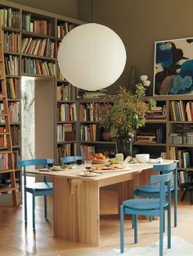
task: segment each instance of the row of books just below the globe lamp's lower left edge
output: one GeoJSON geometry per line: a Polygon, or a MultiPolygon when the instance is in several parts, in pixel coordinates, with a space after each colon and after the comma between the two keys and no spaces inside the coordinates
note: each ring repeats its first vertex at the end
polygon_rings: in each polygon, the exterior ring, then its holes
{"type": "Polygon", "coordinates": [[[56,100],[71,101],[76,99],[76,88],[70,83],[57,85],[56,100]]]}

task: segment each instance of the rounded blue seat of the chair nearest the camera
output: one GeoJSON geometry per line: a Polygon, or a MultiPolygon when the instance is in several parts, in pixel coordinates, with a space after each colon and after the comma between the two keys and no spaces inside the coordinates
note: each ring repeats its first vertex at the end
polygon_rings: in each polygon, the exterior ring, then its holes
{"type": "MultiPolygon", "coordinates": [[[[123,201],[123,205],[139,210],[153,210],[159,208],[159,199],[129,199],[123,201]]],[[[168,206],[168,202],[164,202],[164,207],[168,206]]]]}

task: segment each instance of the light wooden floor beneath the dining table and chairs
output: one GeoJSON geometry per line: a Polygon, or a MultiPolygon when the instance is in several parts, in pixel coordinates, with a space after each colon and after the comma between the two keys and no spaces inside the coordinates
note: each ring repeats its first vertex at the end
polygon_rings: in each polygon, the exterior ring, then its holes
{"type": "MultiPolygon", "coordinates": [[[[180,197],[180,196],[179,196],[180,197]]],[[[106,249],[119,249],[119,217],[117,215],[116,191],[101,191],[101,246],[93,247],[65,240],[55,239],[52,232],[52,197],[49,197],[49,221],[43,217],[43,201],[37,198],[37,229],[33,232],[31,198],[29,195],[29,222],[25,226],[23,208],[0,205],[0,255],[83,255],[106,249]]],[[[133,245],[131,222],[125,225],[125,243],[133,245]]],[[[172,235],[181,236],[193,244],[193,205],[189,197],[178,205],[178,226],[172,228],[172,235]]],[[[150,245],[159,239],[159,221],[141,220],[138,225],[138,246],[150,245]]],[[[107,254],[106,254],[107,255],[107,254]]]]}

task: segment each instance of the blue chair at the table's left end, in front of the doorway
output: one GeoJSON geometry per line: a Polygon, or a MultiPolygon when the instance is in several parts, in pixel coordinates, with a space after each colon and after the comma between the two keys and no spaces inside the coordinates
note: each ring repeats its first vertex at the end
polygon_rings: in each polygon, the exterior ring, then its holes
{"type": "Polygon", "coordinates": [[[43,166],[47,167],[47,159],[29,159],[21,160],[20,167],[24,170],[24,192],[25,192],[25,222],[27,222],[27,192],[31,193],[33,198],[33,229],[35,229],[35,197],[44,196],[44,216],[47,218],[47,195],[52,194],[52,183],[46,181],[46,176],[43,177],[43,182],[34,182],[34,184],[26,184],[26,167],[43,166]]]}

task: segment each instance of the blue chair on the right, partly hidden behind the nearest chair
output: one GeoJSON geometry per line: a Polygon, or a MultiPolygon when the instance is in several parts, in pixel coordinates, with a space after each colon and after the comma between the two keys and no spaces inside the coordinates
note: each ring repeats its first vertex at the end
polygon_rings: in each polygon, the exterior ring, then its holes
{"type": "MultiPolygon", "coordinates": [[[[163,174],[173,171],[173,186],[171,186],[171,191],[174,193],[174,226],[177,226],[177,162],[154,165],[153,171],[159,171],[163,174]]],[[[139,185],[132,190],[133,198],[135,198],[136,195],[159,198],[159,185],[139,185]]]]}

